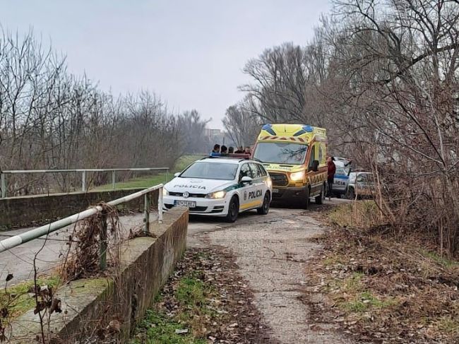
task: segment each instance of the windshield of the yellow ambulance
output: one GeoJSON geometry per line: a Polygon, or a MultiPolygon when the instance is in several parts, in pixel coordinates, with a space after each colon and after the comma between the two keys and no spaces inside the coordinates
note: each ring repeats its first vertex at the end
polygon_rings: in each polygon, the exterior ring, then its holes
{"type": "Polygon", "coordinates": [[[308,146],[298,143],[261,142],[256,145],[254,158],[275,164],[301,165],[308,146]]]}

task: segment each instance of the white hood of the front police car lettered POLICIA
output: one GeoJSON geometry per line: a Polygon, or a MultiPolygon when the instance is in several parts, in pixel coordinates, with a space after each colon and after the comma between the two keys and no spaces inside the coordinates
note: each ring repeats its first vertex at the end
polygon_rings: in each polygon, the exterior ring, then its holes
{"type": "Polygon", "coordinates": [[[169,192],[189,192],[190,194],[209,194],[234,184],[232,180],[198,179],[176,177],[165,188],[169,192]]]}

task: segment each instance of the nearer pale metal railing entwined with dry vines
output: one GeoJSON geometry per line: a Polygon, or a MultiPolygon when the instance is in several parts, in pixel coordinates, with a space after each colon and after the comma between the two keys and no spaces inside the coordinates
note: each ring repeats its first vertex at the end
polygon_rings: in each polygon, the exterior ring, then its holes
{"type": "MultiPolygon", "coordinates": [[[[162,223],[162,188],[163,184],[151,186],[148,189],[138,191],[135,194],[130,194],[128,196],[124,196],[114,201],[109,201],[107,204],[109,206],[118,206],[121,203],[126,203],[132,201],[133,199],[139,198],[144,196],[144,214],[145,218],[143,219],[145,226],[143,227],[143,232],[149,233],[150,232],[150,198],[148,197],[155,190],[159,190],[158,202],[157,202],[157,211],[158,211],[158,222],[162,223]]],[[[104,270],[107,268],[107,216],[104,215],[104,209],[102,206],[95,206],[88,210],[81,211],[81,213],[68,216],[67,218],[63,218],[61,220],[54,221],[53,223],[49,223],[49,225],[44,225],[41,227],[37,227],[33,230],[29,230],[28,232],[21,233],[19,235],[15,235],[13,237],[8,237],[7,239],[3,239],[0,241],[0,253],[4,251],[8,251],[8,249],[13,249],[13,247],[18,247],[25,242],[30,242],[33,239],[38,239],[39,237],[43,237],[44,235],[49,235],[52,232],[56,232],[56,230],[60,230],[68,225],[73,225],[74,223],[84,220],[85,218],[89,218],[97,213],[102,213],[102,228],[105,230],[102,231],[100,235],[100,268],[104,270]]]]}

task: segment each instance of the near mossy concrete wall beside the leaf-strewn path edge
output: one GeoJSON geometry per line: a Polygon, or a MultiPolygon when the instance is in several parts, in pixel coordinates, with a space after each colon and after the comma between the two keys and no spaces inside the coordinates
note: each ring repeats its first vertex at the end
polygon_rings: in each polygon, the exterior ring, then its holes
{"type": "MultiPolygon", "coordinates": [[[[121,323],[119,339],[125,343],[184,253],[187,228],[188,210],[169,210],[162,225],[151,225],[154,237],[127,242],[116,278],[76,280],[59,288],[63,312],[51,316],[53,343],[95,336],[113,319],[121,323]]],[[[32,310],[21,316],[13,324],[11,343],[32,343],[40,331],[38,319],[32,310]]]]}

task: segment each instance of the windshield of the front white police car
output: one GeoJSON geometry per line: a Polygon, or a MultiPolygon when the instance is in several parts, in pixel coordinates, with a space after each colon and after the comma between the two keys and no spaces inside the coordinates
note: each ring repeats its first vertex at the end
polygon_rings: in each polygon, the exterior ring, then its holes
{"type": "Polygon", "coordinates": [[[237,164],[225,162],[195,162],[180,174],[181,178],[233,180],[237,164]]]}

